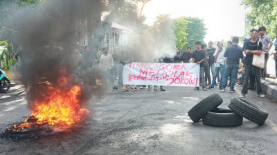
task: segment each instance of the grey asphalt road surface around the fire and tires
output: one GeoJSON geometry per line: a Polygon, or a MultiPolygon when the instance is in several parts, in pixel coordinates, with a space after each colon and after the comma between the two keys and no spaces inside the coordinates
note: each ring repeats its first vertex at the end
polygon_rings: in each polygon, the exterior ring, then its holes
{"type": "MultiPolygon", "coordinates": [[[[264,125],[244,119],[240,127],[210,127],[190,121],[188,110],[215,92],[224,100],[220,107],[228,107],[238,93],[220,93],[217,87],[206,92],[165,88],[110,92],[91,103],[93,119],[88,123],[39,138],[0,138],[0,154],[276,154],[276,103],[249,92],[246,99],[269,112],[264,125]]],[[[1,133],[30,116],[24,90],[17,85],[12,91],[0,94],[1,133]]]]}

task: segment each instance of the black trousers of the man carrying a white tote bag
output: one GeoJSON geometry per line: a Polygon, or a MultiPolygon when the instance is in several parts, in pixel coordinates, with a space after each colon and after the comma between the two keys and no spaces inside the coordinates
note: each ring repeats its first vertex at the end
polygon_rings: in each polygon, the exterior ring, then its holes
{"type": "Polygon", "coordinates": [[[248,79],[252,68],[254,70],[254,74],[256,77],[257,93],[262,94],[262,84],[260,83],[260,68],[257,68],[253,65],[248,65],[248,64],[244,66],[244,81],[243,81],[242,94],[247,94],[248,92],[248,79]]]}

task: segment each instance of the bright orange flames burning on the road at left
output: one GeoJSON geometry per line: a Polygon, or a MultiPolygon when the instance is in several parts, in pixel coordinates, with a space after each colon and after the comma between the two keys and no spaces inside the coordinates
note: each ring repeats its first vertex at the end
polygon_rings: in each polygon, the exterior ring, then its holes
{"type": "MultiPolygon", "coordinates": [[[[64,70],[60,71],[65,74],[64,70]]],[[[33,124],[55,125],[57,123],[72,125],[80,123],[84,117],[89,114],[89,110],[80,109],[80,86],[66,87],[67,78],[62,76],[56,87],[48,87],[48,92],[44,94],[43,100],[35,99],[35,108],[31,110],[32,116],[26,118],[25,123],[14,125],[13,129],[8,130],[19,131],[25,127],[30,127],[32,123],[28,120],[35,120],[33,124]]]]}

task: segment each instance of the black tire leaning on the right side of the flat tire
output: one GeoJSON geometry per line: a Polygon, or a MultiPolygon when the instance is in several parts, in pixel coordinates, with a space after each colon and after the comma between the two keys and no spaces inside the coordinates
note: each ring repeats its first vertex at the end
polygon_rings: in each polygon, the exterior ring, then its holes
{"type": "Polygon", "coordinates": [[[238,97],[232,97],[228,107],[236,114],[258,125],[263,125],[269,115],[265,110],[238,97]]]}

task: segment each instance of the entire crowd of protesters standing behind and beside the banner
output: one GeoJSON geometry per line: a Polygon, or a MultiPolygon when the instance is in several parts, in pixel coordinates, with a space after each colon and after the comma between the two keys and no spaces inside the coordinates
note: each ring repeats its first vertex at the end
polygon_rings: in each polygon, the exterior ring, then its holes
{"type": "MultiPolygon", "coordinates": [[[[272,39],[265,34],[264,26],[258,30],[251,30],[250,39],[244,40],[244,45],[241,48],[238,37],[233,37],[232,41],[227,43],[226,49],[222,42],[217,42],[217,49],[213,47],[213,42],[209,41],[208,45],[195,42],[195,51],[191,52],[191,47],[186,48],[186,52],[181,54],[181,50],[177,48],[177,53],[173,59],[163,58],[155,63],[197,63],[200,65],[199,87],[206,91],[219,87],[220,92],[226,92],[226,86],[230,87],[230,92],[235,92],[235,85],[242,86],[242,94],[244,97],[248,90],[256,90],[260,97],[265,95],[262,92],[261,80],[267,77],[267,61],[269,59],[269,49],[273,45],[272,39]],[[244,53],[244,54],[243,54],[244,53]],[[265,54],[264,68],[258,68],[252,64],[253,55],[265,54]],[[256,86],[255,86],[256,83],[256,86]]],[[[277,38],[277,37],[276,37],[277,38]]],[[[277,43],[274,43],[275,52],[274,59],[276,60],[277,43]]],[[[102,48],[96,56],[92,56],[88,46],[82,47],[78,52],[82,60],[82,72],[91,68],[91,66],[99,65],[107,73],[107,79],[102,81],[102,85],[118,90],[115,85],[115,80],[118,80],[119,85],[123,85],[123,65],[138,61],[136,55],[125,50],[109,54],[108,48],[102,48]]],[[[277,60],[276,60],[277,61],[277,60]]],[[[277,63],[276,63],[277,71],[277,63]]],[[[276,73],[277,76],[277,73],[276,73]]],[[[91,85],[96,87],[96,79],[92,79],[91,85]]],[[[153,85],[157,90],[157,85],[153,85]]],[[[148,88],[153,88],[148,85],[148,88]]],[[[132,87],[134,92],[139,92],[140,89],[145,89],[146,85],[123,85],[123,91],[128,92],[129,87],[132,87]]],[[[199,90],[195,87],[194,90],[199,90]]],[[[163,86],[159,86],[159,90],[166,91],[163,86]]]]}

